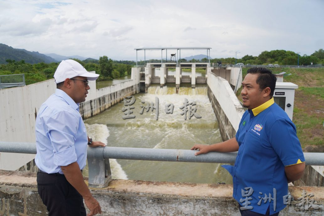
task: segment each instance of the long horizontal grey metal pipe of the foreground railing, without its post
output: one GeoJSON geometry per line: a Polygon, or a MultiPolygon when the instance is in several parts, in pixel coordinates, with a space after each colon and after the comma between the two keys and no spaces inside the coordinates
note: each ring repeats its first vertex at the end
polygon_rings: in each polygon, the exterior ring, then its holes
{"type": "MultiPolygon", "coordinates": [[[[0,142],[0,152],[36,154],[35,143],[0,142]]],[[[209,152],[195,156],[197,151],[184,149],[98,147],[88,148],[88,153],[111,159],[202,162],[202,163],[233,163],[237,152],[209,152]],[[91,153],[89,151],[91,150],[91,153]],[[96,153],[94,153],[94,151],[96,153]]],[[[306,165],[323,166],[324,153],[305,152],[306,165]]]]}

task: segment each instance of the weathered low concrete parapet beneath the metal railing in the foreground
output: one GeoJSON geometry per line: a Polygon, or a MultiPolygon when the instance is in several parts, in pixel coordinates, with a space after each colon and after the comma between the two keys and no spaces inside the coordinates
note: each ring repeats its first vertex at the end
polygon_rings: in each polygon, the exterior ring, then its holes
{"type": "MultiPolygon", "coordinates": [[[[36,173],[0,170],[1,215],[46,215],[36,184],[36,173]],[[25,213],[25,214],[24,214],[25,213]]],[[[87,182],[87,179],[85,178],[87,182]]],[[[92,189],[99,201],[102,214],[109,216],[139,215],[231,215],[239,216],[238,204],[232,198],[232,185],[191,184],[178,182],[152,182],[112,180],[104,189],[92,189]]],[[[289,187],[297,201],[292,201],[280,215],[323,215],[324,189],[322,187],[289,187]],[[313,192],[320,208],[302,210],[297,198],[303,190],[313,192]]],[[[263,203],[262,203],[263,204],[263,203]]]]}

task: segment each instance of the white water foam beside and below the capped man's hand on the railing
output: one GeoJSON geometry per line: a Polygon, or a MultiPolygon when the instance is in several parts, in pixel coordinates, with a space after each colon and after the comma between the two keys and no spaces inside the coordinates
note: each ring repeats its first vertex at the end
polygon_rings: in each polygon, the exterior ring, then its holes
{"type": "MultiPolygon", "coordinates": [[[[93,140],[101,141],[107,144],[107,138],[109,137],[109,130],[105,124],[85,124],[87,129],[87,134],[93,140]]],[[[109,143],[107,144],[109,146],[109,143]]],[[[125,171],[121,168],[121,165],[116,159],[109,159],[111,178],[114,179],[128,179],[125,171]]]]}

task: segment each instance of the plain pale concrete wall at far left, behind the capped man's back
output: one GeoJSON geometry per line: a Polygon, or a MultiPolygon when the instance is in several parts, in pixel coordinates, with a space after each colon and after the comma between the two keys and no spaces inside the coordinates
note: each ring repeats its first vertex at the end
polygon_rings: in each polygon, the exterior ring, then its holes
{"type": "MultiPolygon", "coordinates": [[[[0,89],[0,141],[35,142],[36,115],[41,104],[55,89],[54,79],[0,89]]],[[[34,157],[30,154],[1,153],[0,169],[16,170],[34,157]]]]}

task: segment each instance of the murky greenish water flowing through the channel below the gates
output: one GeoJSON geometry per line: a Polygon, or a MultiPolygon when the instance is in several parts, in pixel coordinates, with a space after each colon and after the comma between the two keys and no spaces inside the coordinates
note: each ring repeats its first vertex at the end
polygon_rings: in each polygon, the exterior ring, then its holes
{"type": "MultiPolygon", "coordinates": [[[[207,97],[206,86],[181,86],[176,94],[174,86],[151,86],[148,93],[134,95],[132,109],[135,118],[122,119],[124,104],[118,103],[108,110],[85,120],[87,133],[94,140],[107,143],[107,146],[190,149],[194,144],[214,144],[221,142],[218,122],[207,97]],[[142,106],[159,99],[158,120],[156,110],[140,114],[142,106]],[[181,115],[185,99],[194,101],[196,113],[184,119],[181,115]],[[145,102],[145,103],[142,103],[145,102]],[[174,105],[173,113],[166,113],[165,105],[174,105]]],[[[150,181],[178,181],[192,183],[232,183],[228,172],[215,163],[161,162],[110,159],[112,178],[150,181]]],[[[87,168],[84,172],[87,174],[87,168]]]]}

